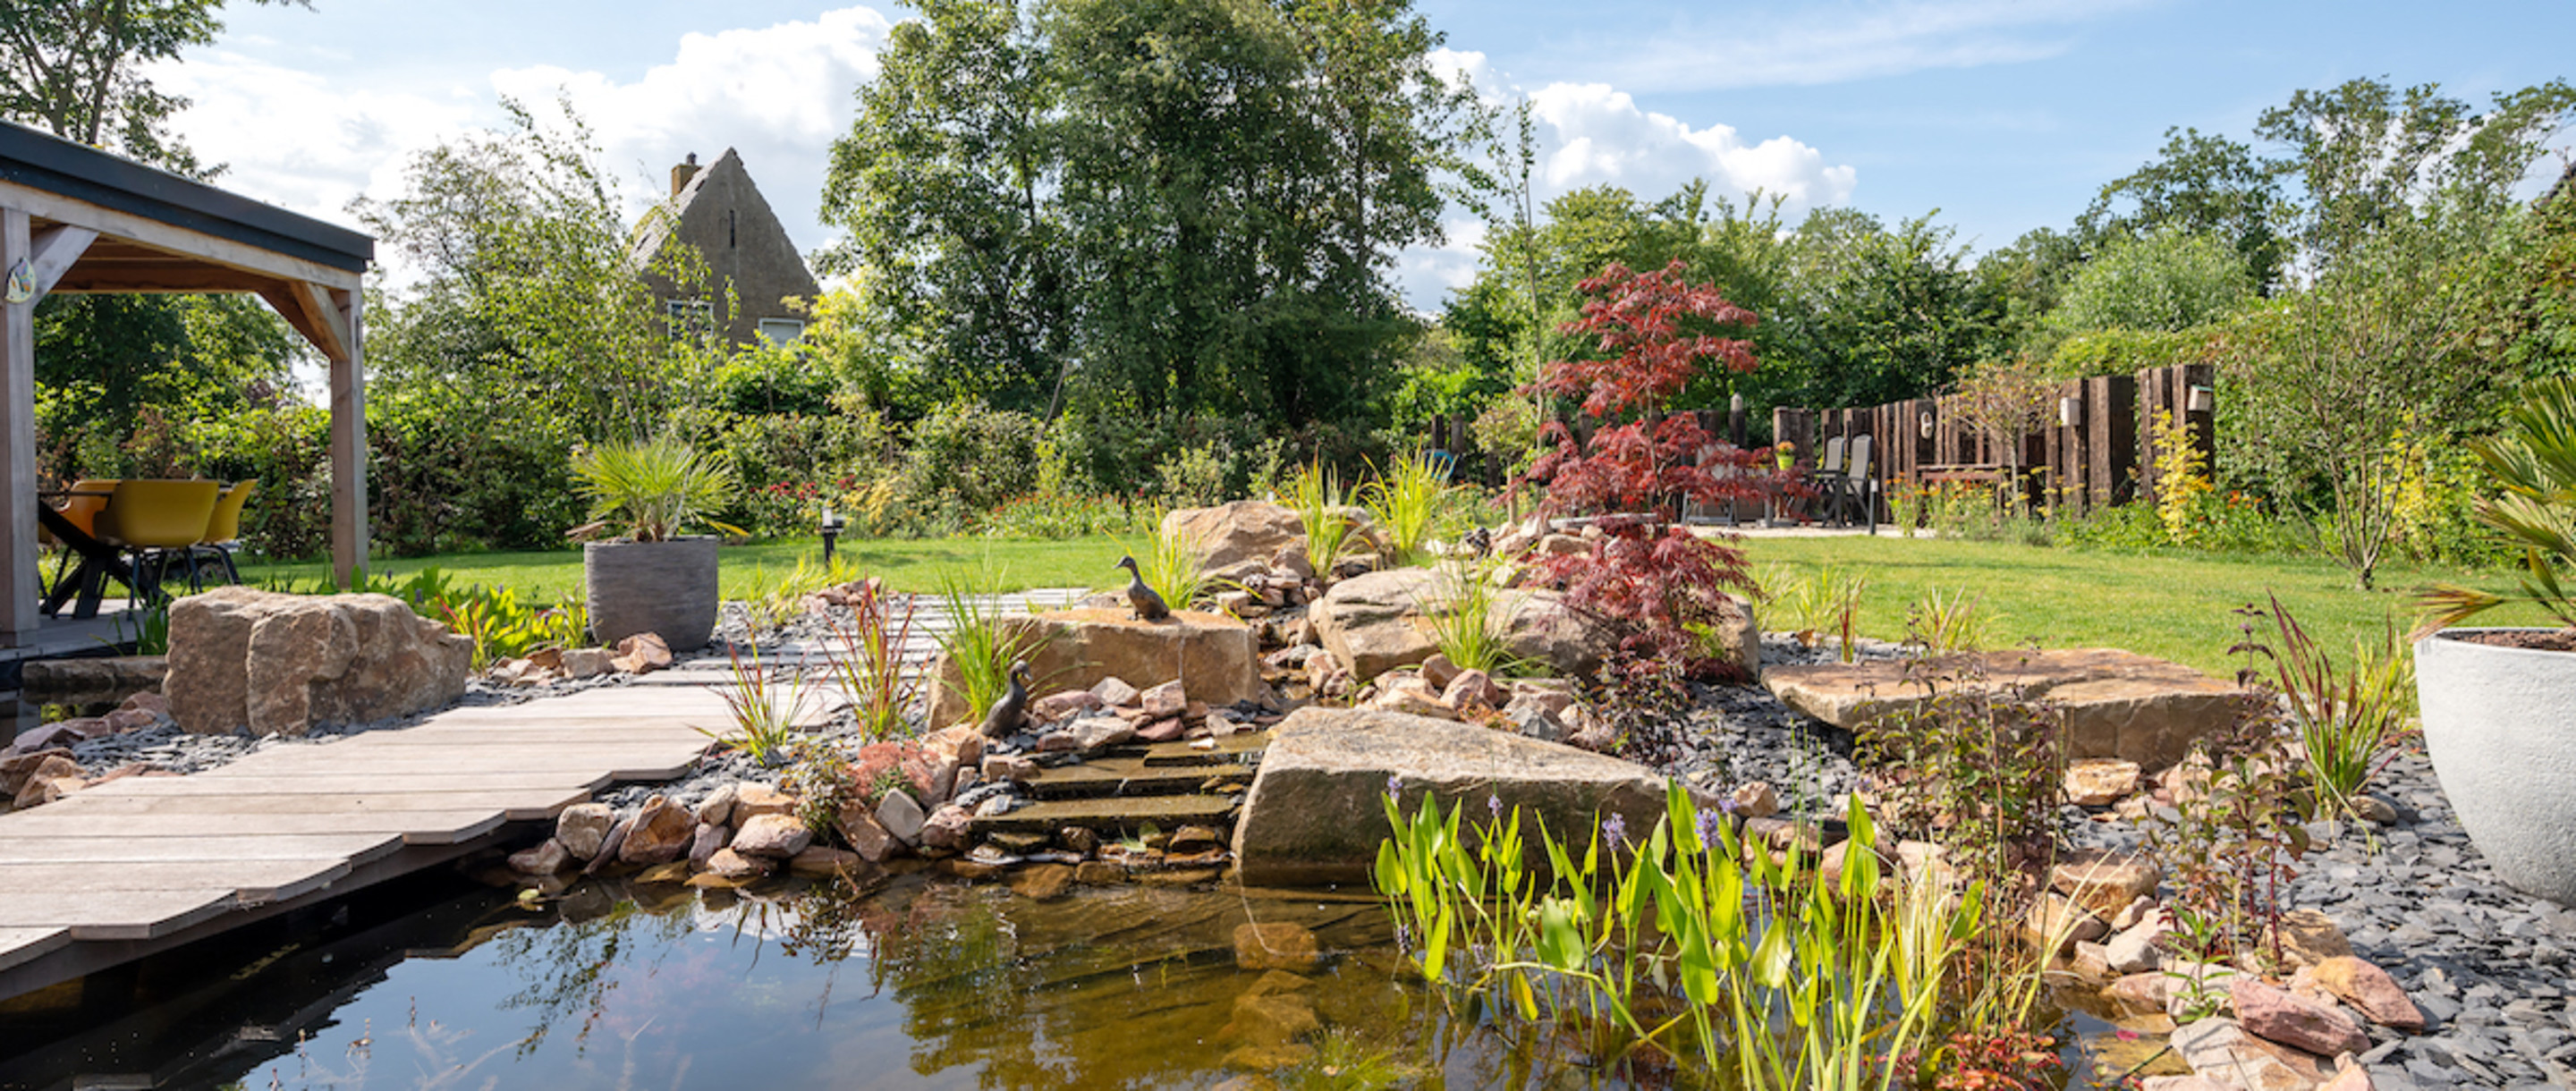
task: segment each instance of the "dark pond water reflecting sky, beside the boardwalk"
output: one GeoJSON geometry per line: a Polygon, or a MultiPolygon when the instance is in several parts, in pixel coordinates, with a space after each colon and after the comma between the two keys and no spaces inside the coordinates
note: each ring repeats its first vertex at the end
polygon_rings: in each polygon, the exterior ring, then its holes
{"type": "Polygon", "coordinates": [[[1664,1086],[1404,983],[1368,901],[412,880],[0,1006],[0,1088],[1664,1086]],[[428,908],[420,908],[428,906],[428,908]],[[1306,975],[1234,929],[1314,929],[1306,975]],[[1247,1083],[1267,1086],[1267,1083],[1247,1083]]]}

